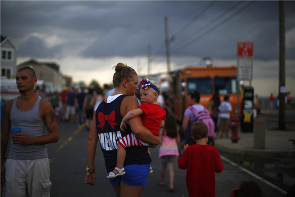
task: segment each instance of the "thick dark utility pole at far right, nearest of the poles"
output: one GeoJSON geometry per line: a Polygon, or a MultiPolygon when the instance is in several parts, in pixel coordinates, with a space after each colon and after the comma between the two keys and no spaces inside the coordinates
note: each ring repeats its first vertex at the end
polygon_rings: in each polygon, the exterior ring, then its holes
{"type": "Polygon", "coordinates": [[[279,0],[279,130],[285,130],[285,1],[279,0]]]}

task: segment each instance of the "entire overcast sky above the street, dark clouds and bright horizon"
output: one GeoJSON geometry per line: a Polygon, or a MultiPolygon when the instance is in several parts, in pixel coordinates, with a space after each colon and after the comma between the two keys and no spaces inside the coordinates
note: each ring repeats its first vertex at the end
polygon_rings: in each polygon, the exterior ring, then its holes
{"type": "MultiPolygon", "coordinates": [[[[218,66],[236,65],[237,42],[243,41],[254,43],[254,78],[275,78],[278,1],[256,1],[245,7],[251,2],[1,0],[0,31],[19,46],[18,63],[29,58],[55,61],[74,81],[96,78],[103,84],[112,81],[112,66],[118,62],[137,69],[140,60],[141,72],[147,72],[148,45],[155,57],[152,72],[166,71],[167,16],[169,36],[174,38],[172,69],[196,65],[203,57],[218,66]]],[[[295,1],[285,3],[286,74],[294,78],[295,1]]]]}

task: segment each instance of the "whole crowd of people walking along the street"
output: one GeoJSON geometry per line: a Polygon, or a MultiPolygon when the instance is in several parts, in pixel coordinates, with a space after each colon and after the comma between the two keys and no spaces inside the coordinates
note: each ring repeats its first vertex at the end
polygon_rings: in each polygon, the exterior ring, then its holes
{"type": "MultiPolygon", "coordinates": [[[[34,70],[30,67],[18,70],[16,80],[21,95],[3,106],[0,160],[1,184],[5,182],[3,197],[50,196],[52,183],[46,144],[59,141],[57,119],[78,125],[86,119],[89,140],[85,183],[90,186],[96,181],[95,153],[100,141],[107,178],[116,196],[140,197],[148,174],[153,172],[149,148],[160,144],[159,185],[165,184],[168,163],[168,191],[174,192],[174,161],[178,159],[178,167],[186,169],[189,196],[215,197],[215,172],[222,172],[223,164],[213,142],[218,130],[219,137],[228,137],[227,125],[232,111],[229,97],[224,96],[221,102],[219,95],[214,94],[205,107],[199,104],[198,91],[189,93],[190,107],[185,110],[182,127],[179,127],[175,117],[157,102],[161,94],[157,82],[143,79],[138,86],[133,68],[122,63],[114,67],[114,89],[109,92],[90,86],[88,90],[70,88],[53,94],[44,91],[35,94],[34,70]],[[137,92],[140,98],[134,97],[137,92]],[[45,126],[49,133],[45,133],[45,126]],[[12,135],[13,143],[6,157],[10,129],[14,128],[22,131],[12,135]],[[177,145],[180,130],[186,133],[182,154],[177,145]]],[[[241,194],[262,196],[252,182],[242,183],[232,192],[233,197],[241,194]]]]}

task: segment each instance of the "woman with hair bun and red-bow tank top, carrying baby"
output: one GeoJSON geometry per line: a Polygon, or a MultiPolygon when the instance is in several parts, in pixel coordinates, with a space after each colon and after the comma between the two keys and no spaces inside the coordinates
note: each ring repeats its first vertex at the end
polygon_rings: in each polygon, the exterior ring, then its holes
{"type": "MultiPolygon", "coordinates": [[[[105,158],[107,173],[111,172],[117,164],[118,140],[129,133],[145,143],[159,144],[159,138],[143,126],[140,116],[130,119],[124,131],[120,131],[123,117],[131,110],[139,107],[138,100],[133,97],[138,90],[138,77],[135,70],[129,66],[118,63],[113,77],[115,92],[104,99],[98,106],[89,133],[87,144],[87,175],[85,183],[95,185],[95,152],[98,139],[105,158]]],[[[117,197],[140,197],[147,176],[150,171],[151,159],[148,147],[134,146],[126,149],[123,176],[110,178],[117,197]]],[[[106,174],[107,175],[107,174],[106,174]]]]}

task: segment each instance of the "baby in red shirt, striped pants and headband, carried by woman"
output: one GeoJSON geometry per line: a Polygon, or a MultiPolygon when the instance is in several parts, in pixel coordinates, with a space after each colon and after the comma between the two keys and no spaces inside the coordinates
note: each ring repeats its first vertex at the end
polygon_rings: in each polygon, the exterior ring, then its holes
{"type": "MultiPolygon", "coordinates": [[[[164,127],[164,120],[166,119],[166,111],[160,107],[157,102],[159,95],[161,94],[160,85],[148,79],[141,81],[140,99],[141,106],[138,109],[129,111],[122,119],[120,129],[124,131],[124,127],[127,129],[126,121],[136,116],[142,115],[143,126],[151,131],[154,135],[159,136],[160,127],[164,127]]],[[[118,153],[117,153],[117,166],[109,173],[107,178],[114,178],[125,174],[123,167],[126,158],[126,147],[132,146],[149,146],[138,139],[134,133],[130,133],[118,141],[118,153]]],[[[149,150],[148,150],[149,153],[149,150]]],[[[150,153],[149,153],[150,155],[150,153]]],[[[152,172],[150,167],[150,173],[152,172]]]]}

